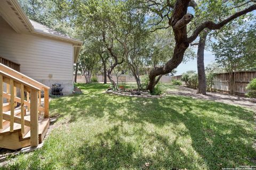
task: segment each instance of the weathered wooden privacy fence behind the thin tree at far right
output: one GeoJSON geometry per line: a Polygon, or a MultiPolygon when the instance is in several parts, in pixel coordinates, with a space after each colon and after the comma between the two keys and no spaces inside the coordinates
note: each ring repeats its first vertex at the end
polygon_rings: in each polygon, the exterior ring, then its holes
{"type": "MultiPolygon", "coordinates": [[[[234,73],[233,73],[234,76],[234,73]]],[[[235,75],[235,93],[245,95],[247,84],[256,78],[256,71],[237,72],[235,75]]],[[[213,79],[213,89],[229,92],[229,73],[220,73],[213,79]]]]}

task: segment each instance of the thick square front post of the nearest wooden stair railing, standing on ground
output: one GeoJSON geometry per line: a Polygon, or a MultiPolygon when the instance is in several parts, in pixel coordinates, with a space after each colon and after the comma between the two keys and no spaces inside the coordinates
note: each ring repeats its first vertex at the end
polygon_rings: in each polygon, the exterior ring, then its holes
{"type": "Polygon", "coordinates": [[[30,92],[30,146],[38,146],[38,91],[30,92]]]}

